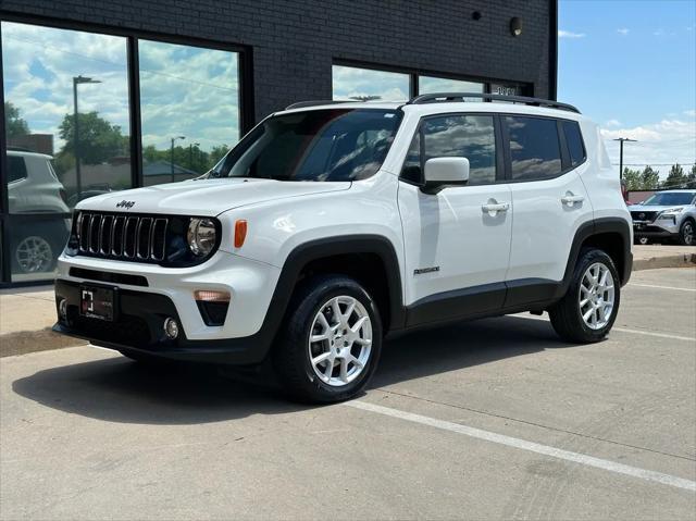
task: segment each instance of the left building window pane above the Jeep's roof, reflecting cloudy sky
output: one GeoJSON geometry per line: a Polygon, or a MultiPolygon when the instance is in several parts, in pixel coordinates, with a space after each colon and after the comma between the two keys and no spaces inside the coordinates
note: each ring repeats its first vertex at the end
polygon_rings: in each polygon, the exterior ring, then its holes
{"type": "Polygon", "coordinates": [[[406,101],[409,99],[409,75],[372,69],[332,67],[334,99],[356,101],[406,101]]]}

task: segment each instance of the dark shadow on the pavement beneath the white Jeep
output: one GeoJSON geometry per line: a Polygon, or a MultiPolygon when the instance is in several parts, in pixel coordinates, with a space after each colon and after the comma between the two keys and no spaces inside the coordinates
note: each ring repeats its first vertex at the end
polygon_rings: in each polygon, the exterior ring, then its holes
{"type": "MultiPolygon", "coordinates": [[[[386,343],[370,388],[563,346],[547,322],[512,317],[422,331],[386,343]]],[[[12,388],[46,407],[124,423],[212,423],[312,408],[288,401],[268,376],[123,357],[42,370],[12,388]]]]}

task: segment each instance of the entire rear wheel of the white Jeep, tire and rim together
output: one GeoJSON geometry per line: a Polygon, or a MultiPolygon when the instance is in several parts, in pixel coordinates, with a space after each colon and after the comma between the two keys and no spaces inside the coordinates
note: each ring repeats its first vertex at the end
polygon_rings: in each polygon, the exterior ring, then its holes
{"type": "Polygon", "coordinates": [[[599,342],[617,319],[620,298],[621,284],[611,257],[598,249],[585,249],[568,291],[549,309],[551,325],[564,340],[599,342]]]}

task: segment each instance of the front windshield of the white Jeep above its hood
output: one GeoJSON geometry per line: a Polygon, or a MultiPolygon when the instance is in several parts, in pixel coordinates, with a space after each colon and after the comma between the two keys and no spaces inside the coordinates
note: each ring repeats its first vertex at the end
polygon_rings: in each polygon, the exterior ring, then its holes
{"type": "Polygon", "coordinates": [[[364,179],[382,166],[400,121],[400,111],[377,109],[312,110],[269,117],[209,177],[364,179]]]}

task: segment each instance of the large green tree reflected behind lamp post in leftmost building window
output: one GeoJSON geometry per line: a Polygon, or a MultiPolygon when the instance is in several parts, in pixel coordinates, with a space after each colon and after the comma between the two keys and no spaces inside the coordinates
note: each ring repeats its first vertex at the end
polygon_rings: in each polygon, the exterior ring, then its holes
{"type": "MultiPolygon", "coordinates": [[[[61,154],[75,153],[75,116],[65,114],[59,127],[65,140],[61,154]]],[[[116,156],[128,154],[128,138],[121,134],[119,125],[112,125],[98,112],[79,114],[79,160],[84,164],[99,164],[116,156]]]]}

